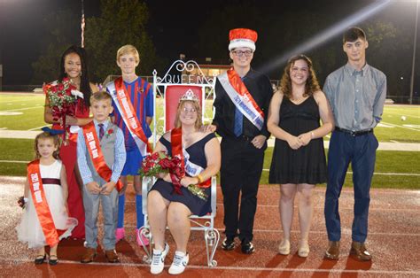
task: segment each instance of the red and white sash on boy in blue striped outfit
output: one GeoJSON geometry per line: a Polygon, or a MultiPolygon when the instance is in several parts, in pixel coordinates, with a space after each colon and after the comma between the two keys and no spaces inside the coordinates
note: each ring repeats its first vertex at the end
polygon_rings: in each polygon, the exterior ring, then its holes
{"type": "Polygon", "coordinates": [[[111,97],[113,97],[113,103],[117,106],[122,120],[124,120],[130,135],[136,142],[138,150],[142,156],[145,157],[148,153],[151,153],[152,150],[149,146],[146,135],[144,135],[143,127],[137,119],[136,111],[131,103],[128,91],[122,81],[122,77],[117,78],[113,82],[109,82],[108,85],[106,85],[106,89],[108,89],[111,97]]]}

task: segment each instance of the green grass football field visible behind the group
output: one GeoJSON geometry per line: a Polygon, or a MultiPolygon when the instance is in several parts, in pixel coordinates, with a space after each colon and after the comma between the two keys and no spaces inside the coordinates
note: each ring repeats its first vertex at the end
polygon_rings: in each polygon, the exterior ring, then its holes
{"type": "MultiPolygon", "coordinates": [[[[40,130],[45,126],[43,103],[42,94],[0,94],[0,133],[2,130],[40,130]]],[[[161,119],[160,99],[156,106],[157,119],[161,119]]],[[[205,118],[211,118],[209,115],[211,112],[206,109],[205,118]]],[[[375,134],[382,143],[420,143],[420,106],[385,105],[383,120],[375,128],[375,134]]],[[[25,175],[25,162],[34,154],[32,140],[0,138],[0,146],[0,175],[25,175]]],[[[268,183],[271,153],[272,148],[268,148],[261,184],[268,183]]],[[[346,185],[350,184],[351,169],[346,178],[346,185]]],[[[377,151],[373,186],[420,189],[420,150],[377,151]]]]}

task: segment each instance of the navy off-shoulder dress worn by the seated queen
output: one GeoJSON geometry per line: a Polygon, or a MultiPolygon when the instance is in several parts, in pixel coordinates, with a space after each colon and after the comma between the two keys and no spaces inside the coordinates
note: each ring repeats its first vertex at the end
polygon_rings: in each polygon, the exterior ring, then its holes
{"type": "MultiPolygon", "coordinates": [[[[199,140],[196,143],[193,143],[190,147],[185,149],[185,151],[187,151],[190,154],[191,162],[206,169],[207,160],[205,146],[206,143],[214,137],[214,133],[206,135],[203,139],[199,140]]],[[[171,143],[167,141],[167,139],[165,139],[163,136],[160,137],[159,142],[167,148],[167,154],[169,156],[172,156],[171,143]]],[[[208,212],[212,212],[210,187],[205,189],[205,193],[208,196],[206,201],[199,197],[196,197],[195,195],[192,195],[190,190],[186,189],[185,187],[181,187],[183,195],[176,194],[174,192],[174,185],[172,184],[172,182],[163,181],[162,179],[158,179],[158,181],[155,182],[151,190],[159,191],[160,195],[162,195],[162,197],[166,198],[170,202],[183,203],[183,205],[186,205],[194,215],[203,216],[206,215],[208,212]]]]}

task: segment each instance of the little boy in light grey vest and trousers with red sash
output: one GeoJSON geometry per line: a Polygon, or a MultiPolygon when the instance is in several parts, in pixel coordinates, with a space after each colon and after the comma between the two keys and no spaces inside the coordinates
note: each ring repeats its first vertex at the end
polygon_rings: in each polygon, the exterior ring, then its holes
{"type": "Polygon", "coordinates": [[[124,135],[119,127],[108,120],[113,112],[112,97],[98,92],[90,97],[93,121],[79,130],[77,137],[77,163],[83,181],[86,251],[82,263],[97,256],[97,215],[99,202],[104,216],[104,247],[108,262],[117,263],[115,251],[115,224],[118,216],[119,181],[126,161],[124,135]]]}

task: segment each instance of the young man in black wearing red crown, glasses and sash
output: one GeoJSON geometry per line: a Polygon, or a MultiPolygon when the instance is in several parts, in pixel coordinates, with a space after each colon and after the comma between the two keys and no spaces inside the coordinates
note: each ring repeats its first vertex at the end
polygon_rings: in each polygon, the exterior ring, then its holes
{"type": "Polygon", "coordinates": [[[255,251],[253,219],[269,137],[268,106],[273,95],[268,77],[251,68],[257,36],[250,29],[230,30],[229,56],[233,68],[217,77],[215,115],[208,127],[223,137],[221,186],[226,238],[222,249],[233,250],[238,236],[245,254],[255,251]]]}

